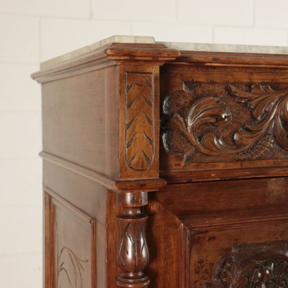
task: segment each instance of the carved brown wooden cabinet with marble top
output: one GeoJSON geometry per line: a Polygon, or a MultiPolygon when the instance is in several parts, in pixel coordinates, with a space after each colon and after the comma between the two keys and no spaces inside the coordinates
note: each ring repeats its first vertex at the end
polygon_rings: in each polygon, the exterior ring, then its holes
{"type": "Polygon", "coordinates": [[[43,63],[45,287],[288,287],[287,54],[112,37],[43,63]]]}

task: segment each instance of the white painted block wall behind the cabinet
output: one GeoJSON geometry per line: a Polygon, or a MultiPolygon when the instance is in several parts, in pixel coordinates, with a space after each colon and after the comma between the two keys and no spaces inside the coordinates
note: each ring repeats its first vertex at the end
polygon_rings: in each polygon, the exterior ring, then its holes
{"type": "Polygon", "coordinates": [[[0,287],[39,288],[39,62],[114,34],[287,46],[287,0],[0,0],[0,287]]]}

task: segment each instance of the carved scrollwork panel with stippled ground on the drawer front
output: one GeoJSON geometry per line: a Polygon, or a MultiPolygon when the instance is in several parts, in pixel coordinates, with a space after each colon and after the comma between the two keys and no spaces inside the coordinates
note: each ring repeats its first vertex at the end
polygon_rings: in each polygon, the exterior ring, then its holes
{"type": "Polygon", "coordinates": [[[282,84],[184,82],[163,103],[162,139],[192,162],[288,159],[288,89],[282,84]]]}

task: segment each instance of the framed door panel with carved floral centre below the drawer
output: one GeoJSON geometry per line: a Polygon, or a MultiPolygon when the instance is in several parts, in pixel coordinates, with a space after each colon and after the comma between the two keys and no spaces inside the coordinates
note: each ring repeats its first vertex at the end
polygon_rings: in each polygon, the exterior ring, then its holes
{"type": "Polygon", "coordinates": [[[288,287],[288,218],[185,228],[185,287],[288,287]]]}

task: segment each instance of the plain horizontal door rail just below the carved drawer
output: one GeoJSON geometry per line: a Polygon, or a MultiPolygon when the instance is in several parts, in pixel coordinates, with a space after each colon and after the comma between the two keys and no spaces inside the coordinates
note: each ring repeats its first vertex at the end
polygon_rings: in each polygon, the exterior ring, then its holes
{"type": "Polygon", "coordinates": [[[155,194],[181,221],[287,212],[288,179],[260,178],[167,185],[155,194]]]}

